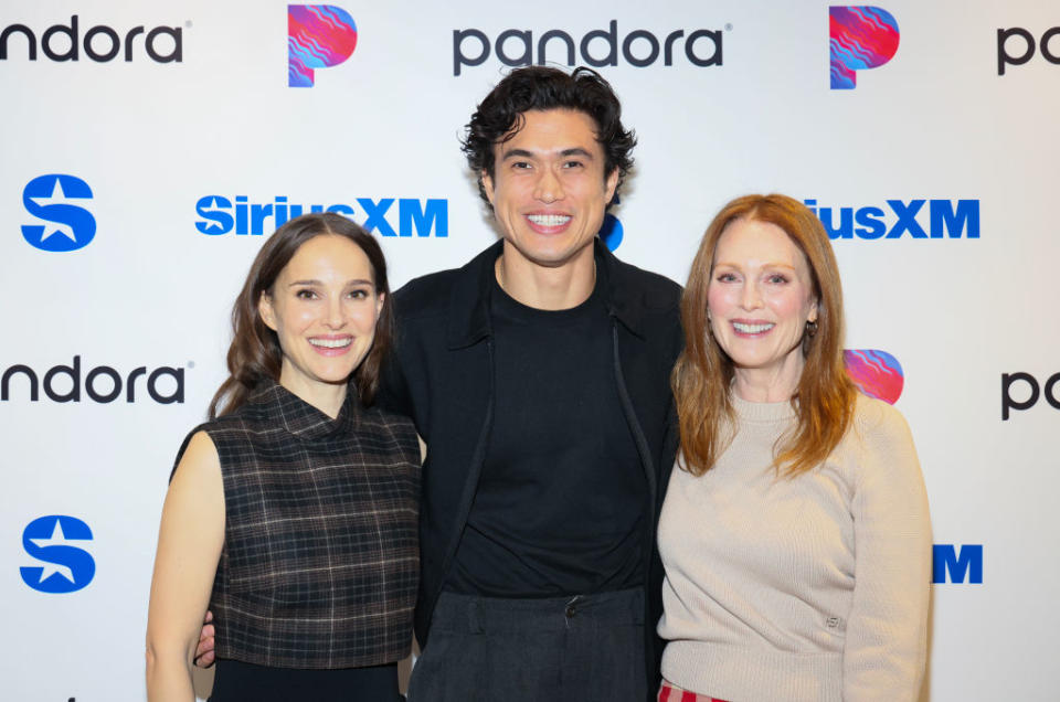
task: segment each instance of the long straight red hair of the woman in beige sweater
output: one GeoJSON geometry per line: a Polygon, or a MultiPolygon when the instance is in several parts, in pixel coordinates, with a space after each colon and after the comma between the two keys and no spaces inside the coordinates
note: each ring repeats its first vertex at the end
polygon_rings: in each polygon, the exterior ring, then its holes
{"type": "Polygon", "coordinates": [[[670,385],[681,429],[681,468],[701,476],[718,461],[735,430],[731,383],[732,360],[709,333],[707,288],[714,252],[725,227],[736,220],[775,224],[784,230],[809,264],[817,299],[817,332],[803,337],[803,368],[792,396],[795,432],[774,448],[774,466],[795,476],[820,464],[847,433],[857,390],[842,361],[842,286],[831,243],[820,221],[803,203],[786,195],[745,195],[722,208],[707,227],[681,298],[685,350],[670,385]]]}

